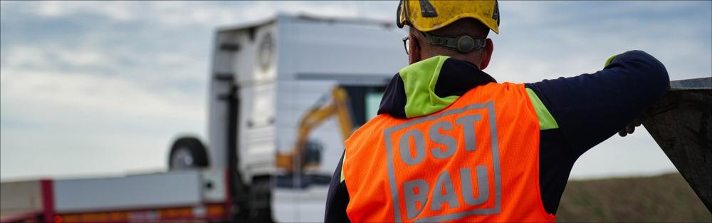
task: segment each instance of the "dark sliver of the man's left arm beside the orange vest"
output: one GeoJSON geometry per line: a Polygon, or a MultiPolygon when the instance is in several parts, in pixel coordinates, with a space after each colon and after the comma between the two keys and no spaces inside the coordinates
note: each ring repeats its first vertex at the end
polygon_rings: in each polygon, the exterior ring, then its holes
{"type": "Polygon", "coordinates": [[[324,222],[351,222],[346,215],[346,207],[349,204],[349,192],[346,189],[345,180],[341,180],[341,167],[344,155],[341,155],[339,165],[331,177],[329,194],[326,198],[326,212],[324,222]]]}

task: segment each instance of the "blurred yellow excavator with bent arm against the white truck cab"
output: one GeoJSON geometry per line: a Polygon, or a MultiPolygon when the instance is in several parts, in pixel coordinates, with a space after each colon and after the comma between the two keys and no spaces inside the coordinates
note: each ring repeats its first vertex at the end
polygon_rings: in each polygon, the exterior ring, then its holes
{"type": "Polygon", "coordinates": [[[346,140],[353,131],[353,124],[349,109],[349,96],[346,90],[340,86],[331,90],[331,100],[328,103],[325,103],[325,100],[320,100],[302,116],[294,147],[290,152],[277,153],[277,167],[288,173],[299,173],[306,169],[319,167],[318,159],[305,159],[309,134],[333,115],[336,116],[339,123],[342,139],[346,140]]]}

